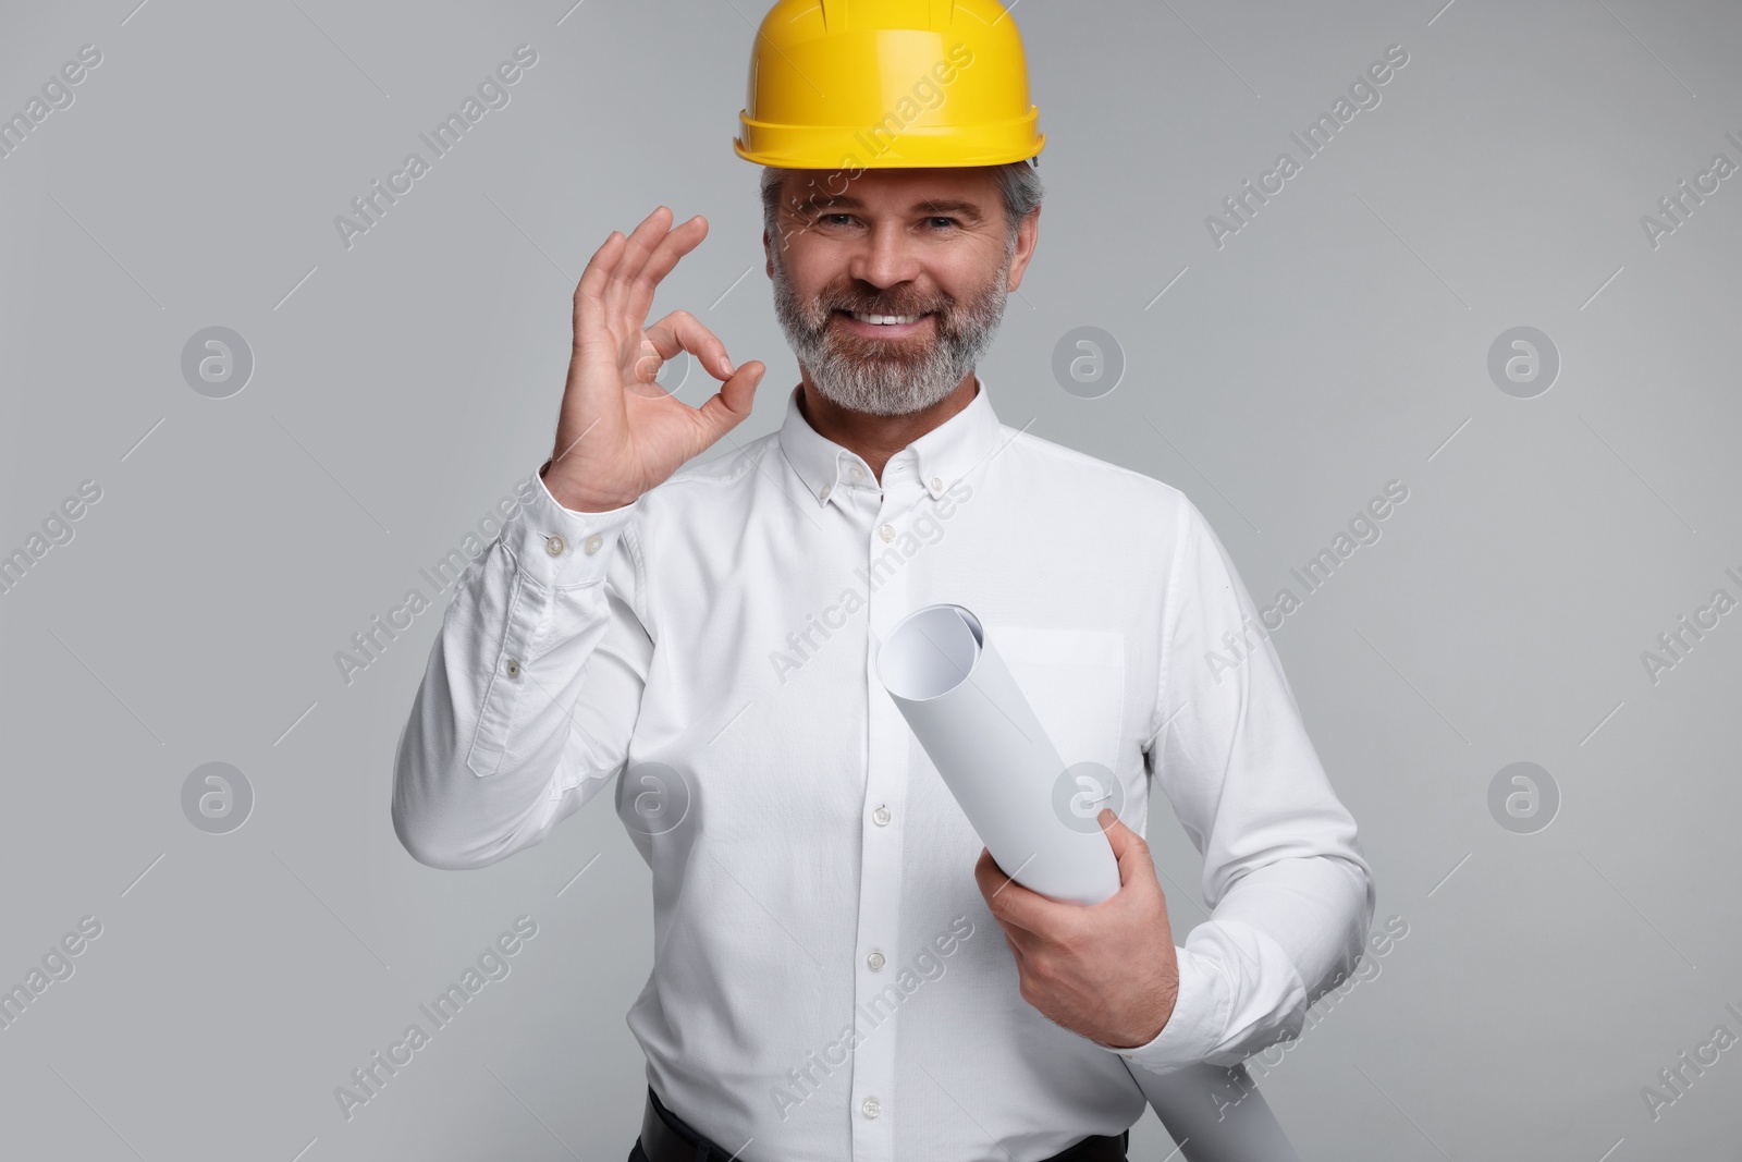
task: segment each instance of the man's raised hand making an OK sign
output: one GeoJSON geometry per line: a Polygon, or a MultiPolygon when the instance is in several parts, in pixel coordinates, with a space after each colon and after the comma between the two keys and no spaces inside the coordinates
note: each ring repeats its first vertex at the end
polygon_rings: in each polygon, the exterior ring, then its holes
{"type": "Polygon", "coordinates": [[[564,509],[634,503],[751,415],[763,362],[733,369],[726,345],[686,310],[646,322],[660,279],[707,237],[700,214],[681,226],[669,223],[671,211],[660,206],[627,239],[613,230],[575,287],[575,352],[544,477],[564,509]],[[700,408],[678,402],[655,382],[679,350],[723,380],[700,408]]]}

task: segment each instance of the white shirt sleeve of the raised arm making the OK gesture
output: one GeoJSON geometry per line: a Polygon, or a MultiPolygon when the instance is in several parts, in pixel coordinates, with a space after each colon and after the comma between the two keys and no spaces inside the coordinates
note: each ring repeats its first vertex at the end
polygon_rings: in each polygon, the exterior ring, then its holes
{"type": "Polygon", "coordinates": [[[394,831],[432,868],[531,847],[622,768],[653,641],[639,500],[575,512],[544,479],[462,573],[394,756],[394,831]]]}

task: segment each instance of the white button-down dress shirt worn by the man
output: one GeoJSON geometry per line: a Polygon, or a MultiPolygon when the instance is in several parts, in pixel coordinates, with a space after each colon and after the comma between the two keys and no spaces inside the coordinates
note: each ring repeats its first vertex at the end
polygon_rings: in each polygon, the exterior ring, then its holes
{"type": "Polygon", "coordinates": [[[481,868],[615,782],[653,880],[627,1021],[681,1118],[746,1162],[1033,1162],[1141,1117],[1125,1061],[1242,1061],[1357,963],[1371,869],[1254,625],[1183,493],[1000,423],[984,378],[881,484],[794,388],[779,432],[622,509],[528,490],[444,615],[394,826],[481,868]],[[1204,855],[1214,911],[1146,1045],[1019,995],[982,843],[876,679],[939,601],[979,615],[1066,763],[1113,772],[1127,826],[1155,786],[1204,855]],[[1252,646],[1233,669],[1207,659],[1225,634],[1252,646]]]}

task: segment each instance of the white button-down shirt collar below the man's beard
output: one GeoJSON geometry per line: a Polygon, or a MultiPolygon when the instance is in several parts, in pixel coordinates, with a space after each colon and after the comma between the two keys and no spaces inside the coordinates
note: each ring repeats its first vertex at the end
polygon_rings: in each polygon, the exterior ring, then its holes
{"type": "MultiPolygon", "coordinates": [[[[977,390],[967,408],[890,456],[883,467],[885,488],[890,483],[890,472],[913,472],[920,488],[932,497],[939,497],[991,453],[998,439],[1000,423],[991,409],[986,378],[976,373],[976,383],[977,390]]],[[[857,483],[876,486],[871,465],[857,453],[841,448],[810,427],[810,422],[798,409],[798,397],[803,390],[803,385],[798,385],[786,397],[786,420],[780,423],[780,451],[786,453],[787,463],[798,472],[810,495],[819,505],[826,505],[843,479],[855,483],[852,477],[854,465],[859,465],[861,472],[864,472],[864,479],[857,483]]]]}

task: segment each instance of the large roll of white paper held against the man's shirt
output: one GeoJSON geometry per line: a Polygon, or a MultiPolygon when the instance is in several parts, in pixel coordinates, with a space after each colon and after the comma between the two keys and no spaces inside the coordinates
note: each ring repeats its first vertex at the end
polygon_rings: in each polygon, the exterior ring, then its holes
{"type": "MultiPolygon", "coordinates": [[[[1106,836],[1078,831],[1054,810],[1066,765],[972,611],[949,603],[915,610],[890,631],[876,667],[1005,875],[1073,904],[1118,892],[1106,836]]],[[[1153,1073],[1122,1063],[1185,1162],[1300,1162],[1244,1064],[1153,1073]]]]}

